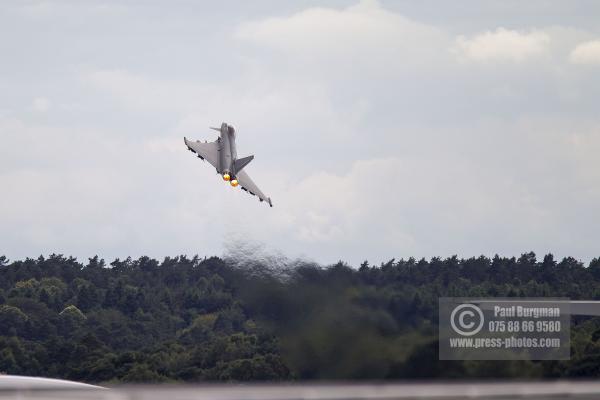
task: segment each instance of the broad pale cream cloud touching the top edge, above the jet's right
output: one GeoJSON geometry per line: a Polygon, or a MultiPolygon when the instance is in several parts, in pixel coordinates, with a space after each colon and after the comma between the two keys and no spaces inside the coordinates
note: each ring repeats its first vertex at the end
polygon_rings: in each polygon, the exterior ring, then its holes
{"type": "Polygon", "coordinates": [[[309,8],[291,16],[241,24],[235,37],[282,51],[305,68],[312,64],[341,73],[363,68],[422,65],[439,56],[447,36],[434,26],[411,20],[363,0],[345,9],[309,8]],[[330,60],[337,63],[327,65],[330,60]]]}

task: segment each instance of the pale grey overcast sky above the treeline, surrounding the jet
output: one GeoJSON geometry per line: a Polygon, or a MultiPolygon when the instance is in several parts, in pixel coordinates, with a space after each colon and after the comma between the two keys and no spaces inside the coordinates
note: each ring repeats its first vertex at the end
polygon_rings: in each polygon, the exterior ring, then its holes
{"type": "Polygon", "coordinates": [[[600,256],[600,3],[0,4],[0,254],[600,256]],[[237,130],[273,208],[183,136],[237,130]]]}

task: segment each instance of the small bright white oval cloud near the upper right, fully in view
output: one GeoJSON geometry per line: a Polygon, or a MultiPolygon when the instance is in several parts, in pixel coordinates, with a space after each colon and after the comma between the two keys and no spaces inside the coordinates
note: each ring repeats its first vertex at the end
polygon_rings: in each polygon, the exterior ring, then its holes
{"type": "Polygon", "coordinates": [[[518,63],[543,54],[549,44],[550,36],[543,31],[497,28],[472,37],[458,36],[452,51],[462,60],[518,63]]]}

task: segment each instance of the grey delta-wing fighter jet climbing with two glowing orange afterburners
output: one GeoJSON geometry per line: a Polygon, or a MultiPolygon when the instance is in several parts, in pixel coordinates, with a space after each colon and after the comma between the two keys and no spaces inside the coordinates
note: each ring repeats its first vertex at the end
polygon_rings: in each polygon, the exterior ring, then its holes
{"type": "Polygon", "coordinates": [[[261,192],[245,171],[245,167],[254,159],[254,156],[237,158],[235,129],[233,129],[233,126],[223,122],[221,128],[211,127],[210,129],[219,131],[217,140],[214,142],[200,142],[199,140],[194,142],[184,137],[183,140],[188,150],[196,153],[202,160],[208,161],[215,167],[217,173],[223,177],[223,180],[229,182],[232,187],[239,185],[242,190],[252,196],[257,196],[261,202],[266,201],[273,207],[271,198],[261,192]]]}

